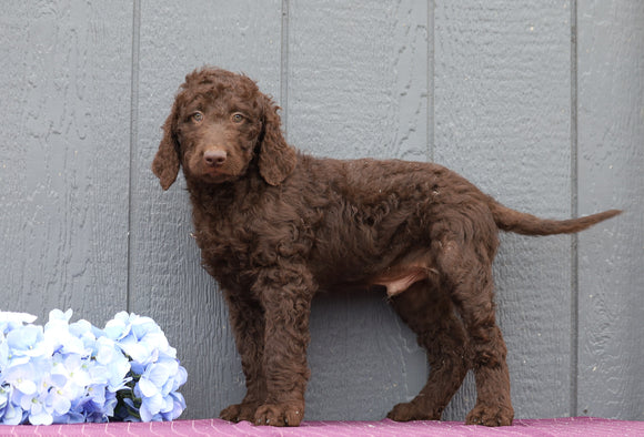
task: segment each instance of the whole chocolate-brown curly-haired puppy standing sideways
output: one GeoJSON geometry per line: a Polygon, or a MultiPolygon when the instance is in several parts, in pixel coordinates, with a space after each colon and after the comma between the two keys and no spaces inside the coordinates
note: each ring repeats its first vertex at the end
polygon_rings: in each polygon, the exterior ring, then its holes
{"type": "Polygon", "coordinates": [[[466,421],[510,425],[493,302],[499,230],[571,233],[618,211],[541,220],[436,164],[312,157],[286,144],[278,109],[244,75],[194,71],[152,164],[163,190],[183,167],[203,265],[230,306],[248,393],[221,417],[299,425],[311,299],[320,288],[354,286],[386,288],[427,349],[427,384],[388,417],[440,419],[473,369],[477,400],[466,421]]]}

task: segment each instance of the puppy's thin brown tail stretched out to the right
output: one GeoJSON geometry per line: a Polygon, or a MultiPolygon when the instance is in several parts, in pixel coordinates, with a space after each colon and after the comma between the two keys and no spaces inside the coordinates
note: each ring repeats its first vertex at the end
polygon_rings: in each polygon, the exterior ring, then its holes
{"type": "Polygon", "coordinates": [[[523,235],[572,234],[622,213],[621,210],[608,210],[580,218],[545,220],[511,210],[492,197],[489,197],[487,205],[500,230],[523,235]]]}

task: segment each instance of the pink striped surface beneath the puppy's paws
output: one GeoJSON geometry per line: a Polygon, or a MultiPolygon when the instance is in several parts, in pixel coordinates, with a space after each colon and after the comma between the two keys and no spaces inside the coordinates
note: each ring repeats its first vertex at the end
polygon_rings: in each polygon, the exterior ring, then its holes
{"type": "Polygon", "coordinates": [[[256,427],[220,419],[151,424],[0,426],[0,436],[644,436],[644,421],[592,417],[514,420],[511,427],[485,428],[456,421],[305,421],[298,428],[256,427]]]}

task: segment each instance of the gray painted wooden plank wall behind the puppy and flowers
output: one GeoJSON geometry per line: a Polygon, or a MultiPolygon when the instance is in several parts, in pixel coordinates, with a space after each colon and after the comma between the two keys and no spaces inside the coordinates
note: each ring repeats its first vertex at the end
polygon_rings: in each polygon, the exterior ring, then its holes
{"type": "MultiPolygon", "coordinates": [[[[184,417],[243,394],[187,193],[150,163],[202,64],[243,71],[316,155],[436,161],[578,236],[502,235],[516,416],[644,419],[644,2],[19,1],[0,12],[0,307],[157,319],[189,372],[184,417]]],[[[306,419],[379,419],[423,352],[383,296],[314,302],[306,419]]],[[[41,318],[41,321],[43,321],[41,318]]],[[[471,378],[445,414],[463,419],[471,378]]]]}

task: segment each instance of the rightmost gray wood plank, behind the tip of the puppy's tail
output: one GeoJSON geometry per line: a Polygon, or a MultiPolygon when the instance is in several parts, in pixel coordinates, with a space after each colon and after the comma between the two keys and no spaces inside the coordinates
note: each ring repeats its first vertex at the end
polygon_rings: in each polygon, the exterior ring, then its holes
{"type": "Polygon", "coordinates": [[[644,3],[577,2],[578,414],[644,419],[644,3]]]}

